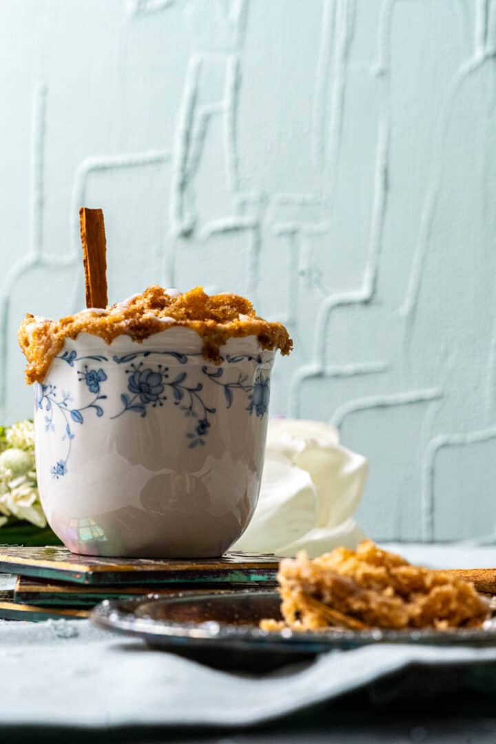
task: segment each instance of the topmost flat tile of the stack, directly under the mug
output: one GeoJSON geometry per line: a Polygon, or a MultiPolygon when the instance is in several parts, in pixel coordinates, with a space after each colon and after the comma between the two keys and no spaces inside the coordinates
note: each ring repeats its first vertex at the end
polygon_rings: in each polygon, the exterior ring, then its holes
{"type": "Polygon", "coordinates": [[[280,558],[226,553],[222,558],[149,559],[81,556],[66,548],[0,547],[0,572],[91,585],[275,584],[280,558]]]}

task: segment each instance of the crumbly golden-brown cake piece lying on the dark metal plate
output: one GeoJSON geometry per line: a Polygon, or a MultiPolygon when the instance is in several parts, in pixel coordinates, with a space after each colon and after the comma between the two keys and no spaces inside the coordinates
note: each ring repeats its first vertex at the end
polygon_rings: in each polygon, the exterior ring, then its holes
{"type": "Polygon", "coordinates": [[[300,552],[280,563],[277,580],[284,620],[262,620],[263,630],[445,630],[478,627],[489,617],[471,583],[410,565],[370,540],[313,560],[300,552]]]}

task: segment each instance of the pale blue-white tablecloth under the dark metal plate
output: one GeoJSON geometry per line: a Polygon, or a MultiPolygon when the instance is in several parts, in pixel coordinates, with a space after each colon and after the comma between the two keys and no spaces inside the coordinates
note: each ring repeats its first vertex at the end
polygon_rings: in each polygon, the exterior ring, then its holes
{"type": "MultiPolygon", "coordinates": [[[[403,554],[419,559],[416,551],[422,562],[444,567],[496,564],[492,548],[434,546],[429,555],[425,546],[402,546],[403,554]]],[[[496,648],[366,647],[254,676],[149,650],[86,621],[3,621],[0,725],[251,725],[330,701],[412,664],[475,665],[486,670],[487,684],[496,682],[496,648]]]]}

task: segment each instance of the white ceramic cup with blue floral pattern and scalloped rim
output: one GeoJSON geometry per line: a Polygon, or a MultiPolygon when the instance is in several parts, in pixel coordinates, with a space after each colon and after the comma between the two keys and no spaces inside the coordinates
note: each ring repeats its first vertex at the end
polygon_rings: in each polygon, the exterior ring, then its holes
{"type": "Polygon", "coordinates": [[[170,328],[67,340],[35,385],[48,523],[74,553],[216,557],[257,505],[274,353],[229,339],[219,366],[170,328]]]}

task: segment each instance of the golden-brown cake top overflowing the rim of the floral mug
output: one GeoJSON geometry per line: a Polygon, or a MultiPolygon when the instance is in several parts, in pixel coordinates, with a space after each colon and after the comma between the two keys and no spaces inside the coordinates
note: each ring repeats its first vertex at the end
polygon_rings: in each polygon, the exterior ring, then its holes
{"type": "Polygon", "coordinates": [[[220,347],[228,339],[257,336],[260,347],[284,355],[293,342],[280,323],[259,318],[251,302],[233,294],[207,295],[202,287],[178,296],[151,286],[141,295],[103,310],[88,309],[59,321],[26,315],[19,328],[19,345],[28,359],[26,382],[42,382],[65,339],[91,333],[110,344],[117,336],[142,341],[170,327],[190,328],[203,341],[204,358],[219,364],[220,347]]]}

